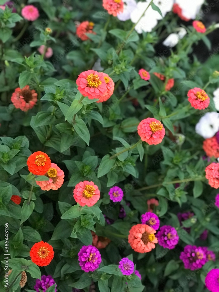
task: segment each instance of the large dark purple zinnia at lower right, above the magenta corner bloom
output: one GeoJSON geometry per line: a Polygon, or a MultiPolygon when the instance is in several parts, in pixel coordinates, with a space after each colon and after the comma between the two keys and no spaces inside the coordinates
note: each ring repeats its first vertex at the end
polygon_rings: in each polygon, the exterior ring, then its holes
{"type": "Polygon", "coordinates": [[[201,247],[187,245],[180,254],[180,260],[183,261],[185,269],[191,271],[200,269],[206,263],[206,253],[201,247]]]}

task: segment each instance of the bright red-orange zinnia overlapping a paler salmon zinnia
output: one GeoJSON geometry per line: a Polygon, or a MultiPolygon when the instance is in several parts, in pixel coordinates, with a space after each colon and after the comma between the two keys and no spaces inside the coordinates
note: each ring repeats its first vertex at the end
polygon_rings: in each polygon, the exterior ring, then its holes
{"type": "Polygon", "coordinates": [[[46,153],[37,151],[28,157],[27,166],[29,172],[36,175],[44,175],[51,167],[51,160],[46,153]]]}

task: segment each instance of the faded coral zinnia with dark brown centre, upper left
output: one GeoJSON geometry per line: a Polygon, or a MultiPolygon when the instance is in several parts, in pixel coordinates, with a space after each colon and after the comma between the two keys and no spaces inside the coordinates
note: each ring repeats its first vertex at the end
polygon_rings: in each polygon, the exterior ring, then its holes
{"type": "Polygon", "coordinates": [[[34,89],[30,90],[29,85],[24,88],[20,87],[15,89],[12,94],[11,102],[16,109],[21,109],[23,112],[27,112],[28,109],[32,109],[37,102],[37,93],[34,89]]]}

